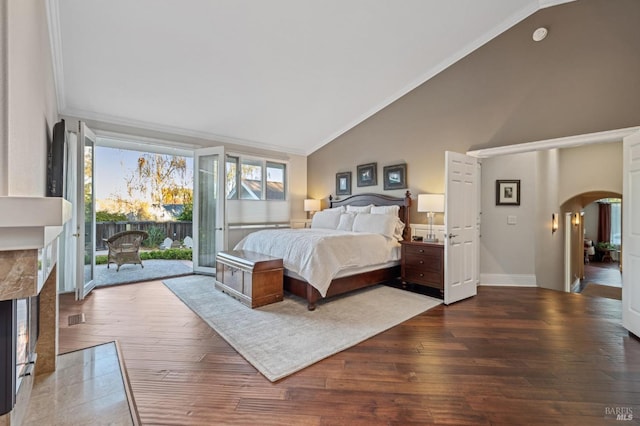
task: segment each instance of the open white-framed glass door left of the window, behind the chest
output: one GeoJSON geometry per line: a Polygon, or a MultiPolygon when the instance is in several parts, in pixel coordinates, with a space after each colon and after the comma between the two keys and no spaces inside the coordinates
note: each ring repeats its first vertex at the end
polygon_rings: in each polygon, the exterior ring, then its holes
{"type": "Polygon", "coordinates": [[[226,249],[224,147],[196,150],[193,165],[193,271],[215,275],[216,254],[226,249]]]}

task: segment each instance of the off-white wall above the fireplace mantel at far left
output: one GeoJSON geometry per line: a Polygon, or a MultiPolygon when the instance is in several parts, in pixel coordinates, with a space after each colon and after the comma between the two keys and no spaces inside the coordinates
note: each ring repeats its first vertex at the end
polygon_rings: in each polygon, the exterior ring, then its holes
{"type": "Polygon", "coordinates": [[[44,196],[47,141],[58,120],[44,0],[8,0],[0,40],[5,95],[0,97],[0,195],[44,196]],[[6,32],[5,32],[6,31],[6,32]],[[5,92],[6,91],[6,92],[5,92]]]}

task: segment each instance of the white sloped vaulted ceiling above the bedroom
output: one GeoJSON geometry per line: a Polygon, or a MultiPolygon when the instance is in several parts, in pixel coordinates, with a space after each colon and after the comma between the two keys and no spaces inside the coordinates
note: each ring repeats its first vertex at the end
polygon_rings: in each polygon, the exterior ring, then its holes
{"type": "Polygon", "coordinates": [[[308,155],[566,0],[48,0],[59,112],[308,155]]]}

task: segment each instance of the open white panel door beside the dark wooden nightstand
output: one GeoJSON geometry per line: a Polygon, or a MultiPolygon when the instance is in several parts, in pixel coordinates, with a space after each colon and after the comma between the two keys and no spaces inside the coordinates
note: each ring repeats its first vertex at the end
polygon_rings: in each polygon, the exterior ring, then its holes
{"type": "Polygon", "coordinates": [[[480,277],[479,181],[475,157],[445,152],[444,303],[477,294],[480,277]]]}

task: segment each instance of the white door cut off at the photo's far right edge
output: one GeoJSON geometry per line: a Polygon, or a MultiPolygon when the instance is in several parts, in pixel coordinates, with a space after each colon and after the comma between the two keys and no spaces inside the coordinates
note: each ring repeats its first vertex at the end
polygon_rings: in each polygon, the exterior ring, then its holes
{"type": "Polygon", "coordinates": [[[640,336],[640,132],[623,141],[622,324],[640,336]]]}

